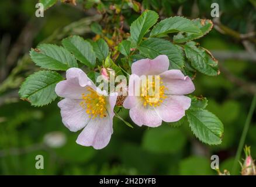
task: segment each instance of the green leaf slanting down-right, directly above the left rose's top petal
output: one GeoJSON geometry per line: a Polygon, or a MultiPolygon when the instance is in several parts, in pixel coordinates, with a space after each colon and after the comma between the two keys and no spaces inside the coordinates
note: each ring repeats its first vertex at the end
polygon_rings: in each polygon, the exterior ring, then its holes
{"type": "Polygon", "coordinates": [[[92,45],[79,36],[71,36],[62,40],[63,46],[74,54],[77,60],[87,65],[88,67],[94,67],[96,63],[96,54],[92,48],[92,45]]]}

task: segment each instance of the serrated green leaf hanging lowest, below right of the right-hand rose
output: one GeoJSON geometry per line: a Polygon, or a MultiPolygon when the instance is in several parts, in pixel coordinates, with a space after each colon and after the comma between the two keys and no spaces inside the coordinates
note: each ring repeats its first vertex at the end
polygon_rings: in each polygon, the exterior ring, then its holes
{"type": "Polygon", "coordinates": [[[205,109],[186,110],[189,126],[200,141],[209,145],[222,143],[223,124],[205,109]]]}

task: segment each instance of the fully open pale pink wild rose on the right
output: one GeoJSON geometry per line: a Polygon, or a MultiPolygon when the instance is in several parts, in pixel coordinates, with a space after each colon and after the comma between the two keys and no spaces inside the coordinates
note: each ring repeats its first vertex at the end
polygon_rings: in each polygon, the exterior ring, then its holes
{"type": "MultiPolygon", "coordinates": [[[[160,126],[164,122],[177,122],[185,116],[185,110],[191,105],[191,99],[184,96],[195,90],[193,82],[180,70],[168,70],[169,60],[160,55],[153,60],[148,58],[132,64],[132,75],[129,78],[129,91],[134,90],[134,82],[141,81],[141,75],[159,75],[158,97],[134,96],[129,92],[123,106],[130,109],[130,117],[139,126],[160,126]]],[[[153,81],[154,85],[154,81],[153,81]]],[[[140,88],[140,93],[147,89],[140,88]]]]}

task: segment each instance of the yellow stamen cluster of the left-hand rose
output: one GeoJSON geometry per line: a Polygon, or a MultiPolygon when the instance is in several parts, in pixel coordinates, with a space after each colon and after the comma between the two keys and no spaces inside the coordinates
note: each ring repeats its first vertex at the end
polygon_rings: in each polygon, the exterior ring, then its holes
{"type": "Polygon", "coordinates": [[[89,117],[106,117],[106,99],[105,96],[98,95],[94,89],[87,87],[89,93],[85,95],[82,93],[82,100],[80,106],[85,109],[89,117]]]}

